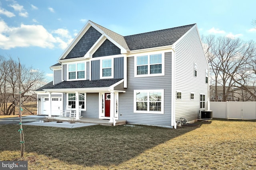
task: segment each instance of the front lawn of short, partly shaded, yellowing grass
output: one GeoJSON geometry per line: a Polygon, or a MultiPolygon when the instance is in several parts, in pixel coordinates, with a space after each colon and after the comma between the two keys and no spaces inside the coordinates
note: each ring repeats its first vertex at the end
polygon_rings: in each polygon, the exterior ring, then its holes
{"type": "Polygon", "coordinates": [[[0,160],[28,160],[28,169],[253,169],[256,122],[221,121],[168,129],[136,125],[75,129],[1,125],[0,160]]]}

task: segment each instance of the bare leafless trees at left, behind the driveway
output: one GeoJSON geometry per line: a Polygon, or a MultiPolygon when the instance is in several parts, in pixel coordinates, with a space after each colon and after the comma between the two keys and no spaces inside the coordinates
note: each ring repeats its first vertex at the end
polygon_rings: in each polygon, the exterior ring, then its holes
{"type": "Polygon", "coordinates": [[[19,63],[10,56],[8,60],[0,56],[0,73],[0,107],[4,115],[15,114],[16,107],[20,102],[19,94],[21,94],[21,103],[24,106],[28,98],[34,97],[31,92],[39,87],[39,82],[45,82],[42,71],[22,65],[20,91],[18,88],[19,63]]]}

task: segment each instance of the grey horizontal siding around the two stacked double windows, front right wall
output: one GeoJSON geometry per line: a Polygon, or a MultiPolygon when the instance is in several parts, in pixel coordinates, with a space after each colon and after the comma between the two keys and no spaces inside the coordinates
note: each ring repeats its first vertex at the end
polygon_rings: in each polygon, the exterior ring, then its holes
{"type": "MultiPolygon", "coordinates": [[[[161,53],[161,51],[160,51],[161,53]]],[[[165,53],[165,75],[134,77],[134,57],[127,58],[127,89],[119,93],[119,119],[131,124],[171,126],[172,53],[165,53]],[[164,114],[134,113],[134,90],[164,89],[164,114]],[[121,116],[122,114],[122,116],[121,116]]]]}

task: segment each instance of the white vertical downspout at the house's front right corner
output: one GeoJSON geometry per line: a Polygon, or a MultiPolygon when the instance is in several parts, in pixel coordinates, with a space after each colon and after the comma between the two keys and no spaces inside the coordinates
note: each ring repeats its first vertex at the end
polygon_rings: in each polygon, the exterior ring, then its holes
{"type": "Polygon", "coordinates": [[[174,127],[174,129],[177,128],[177,123],[175,121],[175,50],[174,50],[174,46],[172,47],[172,123],[171,126],[174,127]]]}

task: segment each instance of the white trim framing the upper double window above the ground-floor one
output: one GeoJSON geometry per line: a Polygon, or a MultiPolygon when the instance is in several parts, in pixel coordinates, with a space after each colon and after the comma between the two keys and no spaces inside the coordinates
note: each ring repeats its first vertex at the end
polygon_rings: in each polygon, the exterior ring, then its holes
{"type": "Polygon", "coordinates": [[[151,76],[164,76],[164,53],[143,53],[140,55],[135,55],[134,56],[134,77],[151,77],[151,76]],[[155,54],[162,54],[162,73],[158,74],[150,74],[150,55],[155,55],[155,54]],[[137,75],[137,57],[140,56],[148,56],[148,74],[140,74],[137,75]]]}

